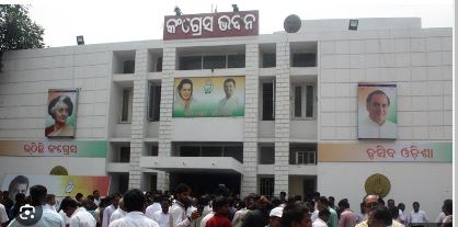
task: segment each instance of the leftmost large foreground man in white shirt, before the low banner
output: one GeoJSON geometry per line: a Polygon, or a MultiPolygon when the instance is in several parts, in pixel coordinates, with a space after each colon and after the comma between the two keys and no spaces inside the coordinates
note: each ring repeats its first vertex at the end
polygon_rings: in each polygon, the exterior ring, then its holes
{"type": "MultiPolygon", "coordinates": [[[[33,226],[46,226],[46,227],[65,227],[65,223],[62,217],[60,215],[48,208],[46,206],[46,194],[47,189],[43,185],[33,185],[30,189],[30,195],[32,198],[32,206],[39,206],[43,211],[42,217],[35,223],[33,226]]],[[[32,217],[32,215],[28,215],[32,217]]],[[[33,218],[33,217],[32,217],[33,218]]],[[[37,217],[36,217],[37,218],[37,217]]],[[[18,222],[18,218],[14,218],[10,225],[10,227],[19,227],[19,226],[25,226],[18,222]]]]}

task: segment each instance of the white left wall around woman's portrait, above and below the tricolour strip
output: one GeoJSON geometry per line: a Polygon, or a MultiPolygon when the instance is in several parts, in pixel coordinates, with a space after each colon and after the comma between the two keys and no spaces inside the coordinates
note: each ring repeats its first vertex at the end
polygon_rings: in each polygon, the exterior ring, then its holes
{"type": "MultiPolygon", "coordinates": [[[[0,73],[0,140],[47,140],[48,89],[68,88],[81,89],[75,140],[106,140],[110,59],[111,53],[96,45],[5,53],[0,73]]],[[[1,157],[0,178],[49,174],[55,166],[75,175],[105,174],[104,158],[1,157]]]]}

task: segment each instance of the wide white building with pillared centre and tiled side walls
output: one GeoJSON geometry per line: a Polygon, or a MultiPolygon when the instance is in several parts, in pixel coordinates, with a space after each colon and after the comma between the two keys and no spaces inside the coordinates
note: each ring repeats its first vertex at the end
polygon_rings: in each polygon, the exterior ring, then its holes
{"type": "Polygon", "coordinates": [[[242,195],[319,191],[358,211],[366,179],[380,173],[391,185],[386,198],[407,211],[419,201],[434,219],[453,190],[451,43],[451,29],[422,29],[420,19],[359,19],[357,31],[348,20],[302,21],[294,34],[9,52],[0,182],[62,166],[71,175],[111,175],[111,191],[225,183],[242,195]],[[175,78],[234,76],[244,78],[243,116],[172,117],[175,78]],[[397,86],[397,139],[358,139],[360,83],[397,86]],[[106,141],[106,158],[5,155],[9,143],[53,140],[44,135],[48,89],[70,88],[80,90],[68,140],[106,141]],[[434,157],[364,156],[377,145],[434,157]]]}

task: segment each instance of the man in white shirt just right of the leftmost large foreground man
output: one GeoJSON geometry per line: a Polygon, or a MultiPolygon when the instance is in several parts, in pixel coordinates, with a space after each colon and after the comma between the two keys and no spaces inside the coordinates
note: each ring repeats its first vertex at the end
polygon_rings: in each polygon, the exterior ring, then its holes
{"type": "Polygon", "coordinates": [[[70,227],[95,227],[95,218],[85,211],[84,207],[78,207],[77,201],[71,197],[64,198],[60,208],[70,217],[70,227]]]}

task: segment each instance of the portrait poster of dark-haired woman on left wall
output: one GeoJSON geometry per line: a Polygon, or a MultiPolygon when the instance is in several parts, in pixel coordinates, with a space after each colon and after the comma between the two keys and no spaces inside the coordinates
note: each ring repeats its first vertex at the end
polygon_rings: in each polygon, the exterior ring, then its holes
{"type": "Polygon", "coordinates": [[[46,109],[46,137],[75,137],[75,126],[77,125],[77,89],[49,89],[46,109]]]}

